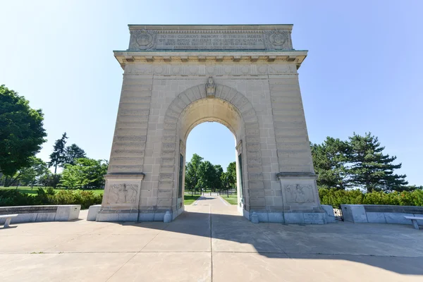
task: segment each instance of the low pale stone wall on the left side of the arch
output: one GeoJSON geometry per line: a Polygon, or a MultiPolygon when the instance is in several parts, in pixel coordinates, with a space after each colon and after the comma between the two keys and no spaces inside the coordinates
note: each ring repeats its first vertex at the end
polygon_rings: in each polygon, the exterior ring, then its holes
{"type": "MultiPolygon", "coordinates": [[[[0,215],[18,214],[11,220],[11,223],[70,221],[78,219],[80,209],[80,204],[0,207],[0,215]]],[[[4,221],[6,219],[0,219],[0,224],[3,224],[4,221]]]]}

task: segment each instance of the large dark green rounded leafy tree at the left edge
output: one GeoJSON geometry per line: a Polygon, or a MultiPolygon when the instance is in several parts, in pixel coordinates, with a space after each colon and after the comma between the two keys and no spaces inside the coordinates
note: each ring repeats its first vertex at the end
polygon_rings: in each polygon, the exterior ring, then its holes
{"type": "Polygon", "coordinates": [[[0,85],[0,172],[9,178],[30,165],[44,137],[43,114],[31,109],[29,102],[0,85]]]}

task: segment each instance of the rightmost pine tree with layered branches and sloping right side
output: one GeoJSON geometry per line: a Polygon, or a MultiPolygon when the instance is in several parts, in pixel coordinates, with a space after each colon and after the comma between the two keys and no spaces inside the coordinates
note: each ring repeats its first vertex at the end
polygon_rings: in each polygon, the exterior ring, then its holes
{"type": "Polygon", "coordinates": [[[371,133],[364,136],[354,133],[349,137],[351,182],[358,187],[373,190],[397,190],[407,185],[405,175],[393,173],[401,164],[393,164],[396,157],[384,154],[378,138],[371,133]]]}

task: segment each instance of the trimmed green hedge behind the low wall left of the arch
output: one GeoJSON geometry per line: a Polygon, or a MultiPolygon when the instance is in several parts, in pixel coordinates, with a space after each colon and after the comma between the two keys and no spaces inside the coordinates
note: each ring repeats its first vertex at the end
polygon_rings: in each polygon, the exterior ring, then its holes
{"type": "Polygon", "coordinates": [[[88,209],[93,204],[101,204],[103,195],[96,195],[85,190],[60,190],[38,188],[32,196],[14,189],[0,190],[0,207],[33,206],[37,204],[80,204],[81,209],[88,209]]]}

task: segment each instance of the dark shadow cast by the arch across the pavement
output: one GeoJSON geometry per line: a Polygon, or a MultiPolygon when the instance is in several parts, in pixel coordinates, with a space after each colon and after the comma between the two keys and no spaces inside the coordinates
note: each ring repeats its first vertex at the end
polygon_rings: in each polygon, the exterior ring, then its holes
{"type": "Polygon", "coordinates": [[[253,224],[243,216],[206,212],[184,212],[167,224],[118,224],[211,238],[212,252],[257,252],[269,258],[320,259],[325,264],[347,260],[398,274],[423,275],[423,232],[410,226],[253,224]]]}

